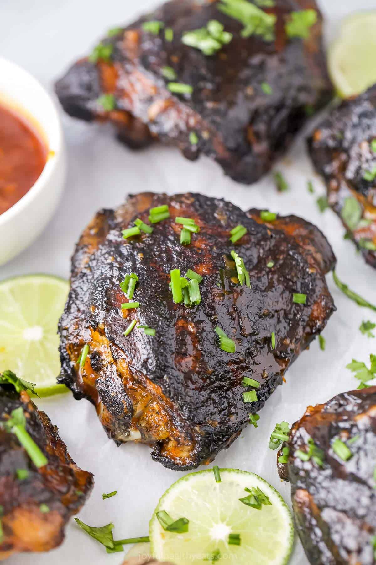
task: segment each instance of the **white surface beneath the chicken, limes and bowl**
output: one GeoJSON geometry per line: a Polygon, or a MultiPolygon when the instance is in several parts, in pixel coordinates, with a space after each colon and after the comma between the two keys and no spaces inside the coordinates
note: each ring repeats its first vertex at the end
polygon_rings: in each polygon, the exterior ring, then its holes
{"type": "MultiPolygon", "coordinates": [[[[335,32],[339,19],[353,10],[374,8],[375,0],[330,0],[320,2],[328,15],[327,37],[335,32]],[[325,5],[324,5],[325,4],[325,5]],[[328,6],[329,5],[329,6],[328,6]]],[[[0,54],[19,63],[51,88],[52,82],[77,56],[86,54],[110,27],[133,19],[156,5],[154,0],[3,0],[0,3],[0,54]]],[[[79,233],[100,207],[122,202],[127,193],[143,190],[168,193],[204,192],[227,197],[242,208],[271,208],[282,214],[298,214],[313,221],[328,236],[338,257],[338,274],[358,292],[376,303],[376,273],[356,255],[351,242],[343,240],[344,230],[331,211],[320,214],[315,198],[324,186],[313,176],[303,136],[278,164],[291,189],[278,194],[271,176],[247,188],[226,179],[208,159],[190,163],[178,151],[154,146],[133,153],[118,144],[98,125],[63,116],[68,145],[69,172],[63,200],[45,233],[25,253],[0,268],[0,279],[24,273],[46,272],[68,277],[70,255],[79,233]],[[307,192],[307,180],[314,179],[316,195],[307,192]]],[[[20,226],[20,229],[22,227],[20,226]]],[[[3,244],[3,242],[2,242],[3,244]]],[[[268,449],[268,436],[276,421],[299,418],[308,404],[324,402],[334,394],[357,386],[344,367],[352,357],[367,361],[376,353],[376,340],[361,335],[363,319],[376,321],[374,312],[348,301],[328,277],[337,312],[324,332],[326,351],[317,343],[303,353],[287,373],[287,383],[276,390],[260,412],[259,428],[248,428],[231,449],[223,451],[216,463],[254,471],[276,486],[289,500],[289,486],[278,480],[275,452],[268,449]]],[[[117,448],[107,440],[86,401],[70,396],[38,401],[60,428],[70,454],[95,473],[95,489],[79,517],[91,525],[113,521],[115,536],[145,535],[148,520],[158,498],[182,473],[168,471],[153,463],[149,448],[126,445],[117,448]],[[118,490],[114,498],[101,500],[101,493],[118,490]]],[[[73,520],[64,543],[44,555],[17,555],[10,565],[118,565],[122,554],[107,555],[103,547],[79,531],[73,520]]],[[[293,565],[306,565],[297,542],[293,565]]]]}

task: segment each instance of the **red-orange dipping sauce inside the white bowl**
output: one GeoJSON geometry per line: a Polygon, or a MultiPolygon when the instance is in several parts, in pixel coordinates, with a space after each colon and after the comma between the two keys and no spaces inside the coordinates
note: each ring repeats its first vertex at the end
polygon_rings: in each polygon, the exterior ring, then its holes
{"type": "Polygon", "coordinates": [[[47,153],[33,124],[0,105],[0,214],[32,188],[45,167],[47,153]]]}

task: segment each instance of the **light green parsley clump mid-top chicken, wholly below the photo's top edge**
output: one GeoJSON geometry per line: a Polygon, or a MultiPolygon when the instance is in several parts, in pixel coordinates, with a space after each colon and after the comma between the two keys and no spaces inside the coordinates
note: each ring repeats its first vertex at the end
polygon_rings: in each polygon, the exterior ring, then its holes
{"type": "Polygon", "coordinates": [[[210,20],[206,27],[192,29],[182,36],[184,45],[199,49],[204,55],[214,55],[231,40],[232,33],[225,32],[224,25],[217,20],[210,20]]]}

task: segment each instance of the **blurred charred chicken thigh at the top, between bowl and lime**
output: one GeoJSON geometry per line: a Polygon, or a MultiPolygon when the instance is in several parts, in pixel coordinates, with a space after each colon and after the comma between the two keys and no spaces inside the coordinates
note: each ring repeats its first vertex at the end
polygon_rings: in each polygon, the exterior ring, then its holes
{"type": "Polygon", "coordinates": [[[201,153],[215,159],[238,182],[255,182],[308,115],[329,101],[332,86],[315,0],[276,0],[271,8],[243,4],[261,15],[260,26],[272,21],[267,32],[244,37],[244,24],[222,11],[227,0],[172,0],[110,31],[101,56],[94,51],[78,60],[57,81],[61,105],[76,118],[109,121],[132,147],[158,138],[188,159],[201,153]],[[306,38],[289,37],[291,14],[304,10],[316,11],[316,23],[306,38]],[[182,42],[185,32],[212,20],[233,36],[220,50],[206,55],[182,42]],[[152,31],[145,28],[151,21],[157,22],[152,31]],[[171,92],[171,82],[192,93],[171,92]],[[104,94],[114,97],[105,107],[104,94]]]}

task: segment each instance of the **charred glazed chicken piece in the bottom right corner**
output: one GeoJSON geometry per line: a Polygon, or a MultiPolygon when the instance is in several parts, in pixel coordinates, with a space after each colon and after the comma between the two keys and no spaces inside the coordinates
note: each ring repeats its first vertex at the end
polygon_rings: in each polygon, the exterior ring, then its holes
{"type": "Polygon", "coordinates": [[[295,524],[309,563],[375,563],[376,386],[309,406],[284,446],[290,453],[278,472],[291,483],[295,524]],[[299,453],[309,452],[312,440],[315,453],[303,461],[299,453]]]}

